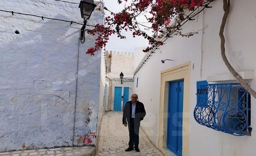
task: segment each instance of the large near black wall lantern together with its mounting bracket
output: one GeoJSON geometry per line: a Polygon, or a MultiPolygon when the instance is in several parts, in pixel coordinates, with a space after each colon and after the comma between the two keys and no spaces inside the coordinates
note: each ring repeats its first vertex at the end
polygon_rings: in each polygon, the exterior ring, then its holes
{"type": "MultiPolygon", "coordinates": [[[[81,12],[81,17],[84,19],[83,26],[81,28],[81,34],[80,34],[81,42],[84,38],[84,30],[86,27],[87,19],[90,18],[91,13],[93,12],[93,10],[96,6],[97,5],[94,4],[94,0],[81,0],[80,1],[79,8],[80,8],[80,12],[81,12]]],[[[82,43],[84,43],[84,41],[82,43]]]]}

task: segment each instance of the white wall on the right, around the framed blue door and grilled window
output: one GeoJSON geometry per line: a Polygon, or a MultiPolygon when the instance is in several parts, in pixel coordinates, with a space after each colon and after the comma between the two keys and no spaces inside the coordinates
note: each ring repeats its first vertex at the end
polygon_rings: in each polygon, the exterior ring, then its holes
{"type": "MultiPolygon", "coordinates": [[[[231,12],[225,28],[226,55],[231,65],[237,71],[256,70],[256,12],[255,0],[232,0],[231,12]]],[[[241,156],[255,155],[256,144],[256,99],[251,97],[251,126],[252,136],[232,136],[199,125],[193,118],[193,109],[196,105],[196,81],[206,80],[207,76],[229,73],[220,55],[219,27],[223,16],[222,0],[211,3],[212,8],[207,8],[205,14],[199,14],[198,20],[188,22],[183,31],[200,30],[208,27],[203,35],[203,64],[202,77],[200,76],[201,40],[202,31],[199,34],[182,38],[175,36],[168,39],[166,44],[158,49],[143,68],[135,75],[139,77],[139,85],[133,83],[133,91],[139,93],[140,101],[144,103],[147,112],[142,122],[142,127],[155,145],[158,145],[158,111],[160,91],[160,71],[176,65],[191,61],[190,79],[190,133],[189,155],[191,156],[241,156]],[[203,18],[204,16],[204,18],[203,18]],[[203,25],[204,23],[204,25],[203,25]],[[164,59],[174,59],[166,61],[164,59]]],[[[254,77],[255,77],[254,72],[254,77]]],[[[235,81],[229,81],[235,82],[235,81]]],[[[256,90],[256,80],[246,80],[256,90]]],[[[186,98],[186,97],[185,97],[186,98]]]]}

